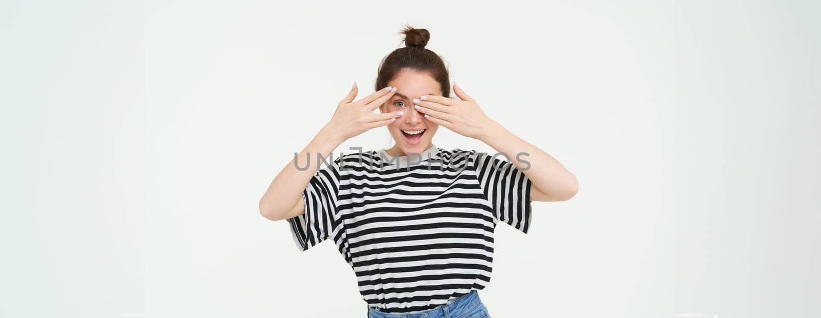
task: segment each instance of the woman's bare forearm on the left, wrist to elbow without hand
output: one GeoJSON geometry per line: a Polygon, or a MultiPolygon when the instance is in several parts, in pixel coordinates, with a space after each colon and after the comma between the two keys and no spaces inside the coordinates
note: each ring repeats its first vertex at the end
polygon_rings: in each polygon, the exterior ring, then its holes
{"type": "Polygon", "coordinates": [[[333,134],[332,129],[324,126],[319,130],[319,134],[311,139],[305,148],[296,155],[296,162],[299,163],[300,170],[296,168],[294,160],[279,171],[279,174],[268,185],[268,189],[259,199],[259,213],[269,220],[284,220],[289,217],[292,211],[304,211],[295,209],[301,204],[302,192],[310,182],[311,177],[314,176],[320,166],[318,165],[317,157],[321,155],[323,158],[328,158],[340,143],[344,140],[338,134],[333,134]]]}

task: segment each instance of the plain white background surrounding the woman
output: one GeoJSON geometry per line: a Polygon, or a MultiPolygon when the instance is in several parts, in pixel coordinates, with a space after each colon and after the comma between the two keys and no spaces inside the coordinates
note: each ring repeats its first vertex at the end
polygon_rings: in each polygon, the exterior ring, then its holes
{"type": "Polygon", "coordinates": [[[529,234],[498,227],[492,316],[821,316],[819,21],[818,1],[2,1],[0,316],[365,316],[333,243],[299,252],[257,203],[404,23],[580,180],[529,234]]]}

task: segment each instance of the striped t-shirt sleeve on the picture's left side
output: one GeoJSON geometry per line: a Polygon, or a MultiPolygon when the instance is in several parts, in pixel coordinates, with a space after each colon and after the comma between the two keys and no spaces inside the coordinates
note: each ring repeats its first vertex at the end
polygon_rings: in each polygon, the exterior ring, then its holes
{"type": "Polygon", "coordinates": [[[342,230],[342,220],[339,219],[337,212],[340,161],[341,158],[337,158],[331,165],[323,164],[314,173],[302,191],[305,213],[287,219],[291,227],[291,236],[300,251],[322,243],[342,230]]]}

